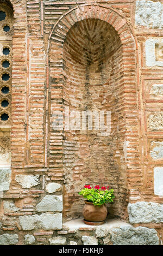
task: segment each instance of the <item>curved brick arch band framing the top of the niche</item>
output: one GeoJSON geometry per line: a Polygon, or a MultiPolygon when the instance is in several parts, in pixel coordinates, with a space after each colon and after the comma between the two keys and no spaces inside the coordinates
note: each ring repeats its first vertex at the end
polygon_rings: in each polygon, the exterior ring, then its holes
{"type": "MultiPolygon", "coordinates": [[[[80,7],[75,7],[62,15],[57,23],[55,23],[49,34],[48,47],[51,39],[59,40],[64,43],[66,39],[66,34],[70,28],[79,21],[84,19],[99,19],[108,22],[112,27],[115,28],[116,32],[119,34],[122,44],[127,44],[126,39],[130,38],[135,44],[133,33],[129,27],[127,20],[118,11],[105,7],[103,5],[94,4],[84,4],[80,7]],[[58,33],[60,29],[61,33],[58,33]],[[125,33],[124,33],[125,32],[125,33]],[[127,36],[128,34],[128,36],[127,36]]],[[[128,43],[130,43],[130,41],[128,43]]],[[[136,45],[136,44],[135,44],[136,45]]],[[[135,46],[136,47],[136,46],[135,46]]]]}

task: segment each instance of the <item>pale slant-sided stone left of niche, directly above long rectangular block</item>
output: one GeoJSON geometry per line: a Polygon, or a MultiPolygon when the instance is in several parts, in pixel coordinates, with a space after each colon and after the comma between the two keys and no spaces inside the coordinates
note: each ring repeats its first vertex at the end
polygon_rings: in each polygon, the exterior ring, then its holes
{"type": "Polygon", "coordinates": [[[62,196],[58,195],[46,195],[35,207],[38,212],[61,212],[62,209],[62,196]]]}

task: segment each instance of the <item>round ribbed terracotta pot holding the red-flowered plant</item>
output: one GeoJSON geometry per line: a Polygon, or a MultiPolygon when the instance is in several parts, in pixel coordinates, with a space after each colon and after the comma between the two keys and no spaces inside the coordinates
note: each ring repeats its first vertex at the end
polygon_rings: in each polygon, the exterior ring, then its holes
{"type": "Polygon", "coordinates": [[[93,203],[85,201],[83,207],[84,223],[88,225],[101,225],[107,216],[107,208],[105,205],[95,206],[93,203]]]}

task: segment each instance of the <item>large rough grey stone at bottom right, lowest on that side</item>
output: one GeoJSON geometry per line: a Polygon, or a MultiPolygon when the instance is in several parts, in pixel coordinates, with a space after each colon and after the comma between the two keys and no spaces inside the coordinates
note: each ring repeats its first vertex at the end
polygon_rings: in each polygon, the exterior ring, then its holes
{"type": "Polygon", "coordinates": [[[155,229],[145,227],[112,229],[111,241],[114,245],[159,245],[155,229]]]}

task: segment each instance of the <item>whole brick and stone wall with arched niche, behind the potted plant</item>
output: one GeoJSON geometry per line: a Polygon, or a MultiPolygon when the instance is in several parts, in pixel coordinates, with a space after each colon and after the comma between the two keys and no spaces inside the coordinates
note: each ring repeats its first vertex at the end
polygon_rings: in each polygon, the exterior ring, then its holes
{"type": "Polygon", "coordinates": [[[0,118],[9,116],[0,120],[1,244],[118,243],[65,228],[82,218],[85,183],[114,188],[108,218],[162,243],[162,4],[0,1],[1,15],[11,10],[0,21],[0,118]],[[55,130],[53,113],[65,107],[111,111],[110,135],[55,130]]]}

